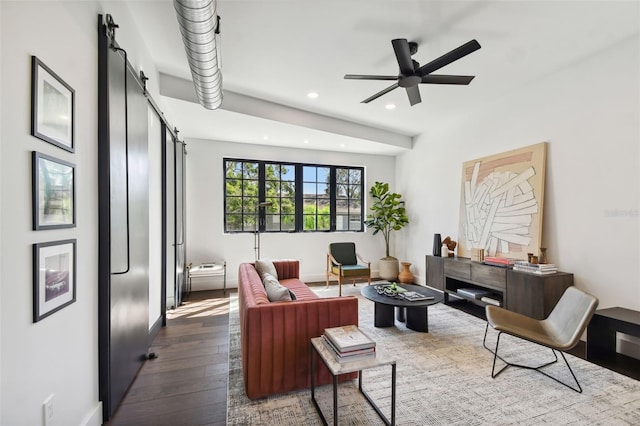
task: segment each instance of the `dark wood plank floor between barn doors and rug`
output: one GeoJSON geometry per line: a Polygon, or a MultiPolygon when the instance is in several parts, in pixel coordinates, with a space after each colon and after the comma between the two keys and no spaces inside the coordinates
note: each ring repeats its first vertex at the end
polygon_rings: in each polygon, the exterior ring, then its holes
{"type": "Polygon", "coordinates": [[[115,415],[120,425],[224,425],[229,371],[229,291],[192,293],[167,315],[115,415]]]}

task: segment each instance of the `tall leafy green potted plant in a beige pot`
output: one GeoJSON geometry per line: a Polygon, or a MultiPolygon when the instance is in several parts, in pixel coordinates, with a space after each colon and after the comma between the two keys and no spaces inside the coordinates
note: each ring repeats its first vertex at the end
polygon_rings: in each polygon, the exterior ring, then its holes
{"type": "Polygon", "coordinates": [[[369,194],[373,197],[373,204],[364,223],[373,229],[373,235],[381,232],[384,236],[385,257],[380,259],[380,278],[395,280],[398,277],[398,259],[389,255],[389,238],[391,231],[399,231],[409,223],[404,201],[400,200],[402,195],[389,192],[388,183],[375,182],[369,194]]]}

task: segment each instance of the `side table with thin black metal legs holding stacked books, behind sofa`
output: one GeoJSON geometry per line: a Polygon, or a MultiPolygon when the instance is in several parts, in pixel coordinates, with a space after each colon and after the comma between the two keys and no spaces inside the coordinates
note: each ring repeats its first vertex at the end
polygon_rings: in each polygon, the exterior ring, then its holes
{"type": "Polygon", "coordinates": [[[364,358],[356,361],[349,362],[338,362],[331,353],[329,353],[329,349],[322,342],[322,337],[314,337],[311,339],[311,402],[313,402],[313,406],[316,408],[316,411],[320,415],[320,419],[324,425],[327,424],[327,420],[322,414],[322,410],[316,401],[315,395],[315,355],[319,355],[320,359],[327,366],[331,375],[333,376],[333,424],[335,426],[338,425],[338,376],[340,374],[353,373],[354,371],[358,372],[358,389],[360,393],[365,397],[367,402],[376,410],[378,416],[382,419],[382,421],[388,426],[394,426],[396,424],[396,361],[395,359],[386,358],[384,356],[380,356],[380,354],[376,354],[375,357],[364,358]],[[362,389],[362,370],[373,367],[380,367],[383,365],[391,365],[391,421],[385,417],[380,408],[376,405],[376,403],[371,399],[369,394],[367,394],[364,389],[362,389]]]}

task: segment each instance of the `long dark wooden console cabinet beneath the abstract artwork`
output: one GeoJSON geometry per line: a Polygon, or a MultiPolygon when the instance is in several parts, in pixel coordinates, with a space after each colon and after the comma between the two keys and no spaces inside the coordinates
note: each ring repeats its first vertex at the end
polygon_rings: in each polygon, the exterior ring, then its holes
{"type": "Polygon", "coordinates": [[[490,292],[500,306],[536,319],[546,318],[564,291],[573,285],[573,274],[535,275],[473,262],[462,257],[426,256],[427,286],[444,292],[444,303],[484,317],[487,303],[468,298],[460,288],[490,292]]]}

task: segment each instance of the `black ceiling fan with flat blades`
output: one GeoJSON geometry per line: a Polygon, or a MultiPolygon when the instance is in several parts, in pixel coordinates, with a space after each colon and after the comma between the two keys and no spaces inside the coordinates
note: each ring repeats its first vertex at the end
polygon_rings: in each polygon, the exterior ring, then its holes
{"type": "Polygon", "coordinates": [[[400,73],[397,76],[360,74],[346,74],[344,76],[347,80],[397,80],[396,83],[362,101],[363,104],[369,103],[374,99],[378,99],[380,96],[389,93],[393,89],[404,87],[407,90],[409,103],[413,106],[422,102],[418,84],[467,85],[471,83],[471,80],[475,77],[473,75],[442,75],[431,73],[480,49],[480,43],[476,40],[471,40],[422,66],[411,59],[411,55],[418,51],[417,43],[408,42],[407,39],[404,38],[397,38],[391,40],[391,44],[393,45],[393,51],[396,54],[398,66],[400,67],[400,73]]]}

